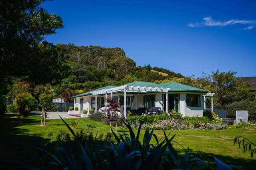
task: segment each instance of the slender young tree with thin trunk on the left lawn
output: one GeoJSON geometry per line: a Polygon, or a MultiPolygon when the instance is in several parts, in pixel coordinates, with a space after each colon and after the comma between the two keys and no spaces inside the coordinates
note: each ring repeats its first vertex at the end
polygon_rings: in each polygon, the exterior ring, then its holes
{"type": "Polygon", "coordinates": [[[39,96],[39,106],[42,107],[41,126],[45,126],[46,109],[52,105],[52,93],[44,92],[39,96]]]}

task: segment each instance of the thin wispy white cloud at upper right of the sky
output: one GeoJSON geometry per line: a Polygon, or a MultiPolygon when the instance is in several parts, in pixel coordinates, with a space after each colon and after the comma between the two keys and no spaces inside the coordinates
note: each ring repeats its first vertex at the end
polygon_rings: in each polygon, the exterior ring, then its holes
{"type": "Polygon", "coordinates": [[[254,25],[256,24],[255,20],[228,20],[228,21],[216,21],[213,20],[211,16],[203,18],[202,22],[196,22],[196,23],[189,23],[187,26],[189,27],[202,27],[202,26],[218,26],[218,27],[224,27],[228,25],[234,25],[234,24],[246,24],[250,25],[243,30],[251,30],[254,28],[254,25]]]}

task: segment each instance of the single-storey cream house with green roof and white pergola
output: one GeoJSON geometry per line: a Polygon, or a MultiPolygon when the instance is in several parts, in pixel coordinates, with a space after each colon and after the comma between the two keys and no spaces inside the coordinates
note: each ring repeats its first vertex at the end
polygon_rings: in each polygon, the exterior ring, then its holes
{"type": "Polygon", "coordinates": [[[105,98],[111,97],[121,103],[125,117],[128,109],[140,107],[146,109],[160,107],[162,111],[167,112],[173,109],[183,116],[202,117],[205,109],[205,97],[213,97],[207,93],[206,90],[177,82],[156,84],[135,81],[120,86],[108,85],[71,98],[75,99],[74,108],[78,107],[80,113],[83,109],[89,111],[105,107],[105,98]]]}

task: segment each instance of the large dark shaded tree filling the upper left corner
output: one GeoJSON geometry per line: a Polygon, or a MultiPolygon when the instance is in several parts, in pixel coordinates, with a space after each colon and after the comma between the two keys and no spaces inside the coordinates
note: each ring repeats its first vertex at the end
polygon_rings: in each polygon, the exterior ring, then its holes
{"type": "Polygon", "coordinates": [[[57,83],[67,65],[55,45],[44,36],[62,28],[62,20],[48,13],[44,0],[0,1],[0,112],[4,113],[6,79],[20,77],[36,83],[57,83]],[[56,76],[57,75],[57,76],[56,76]]]}

